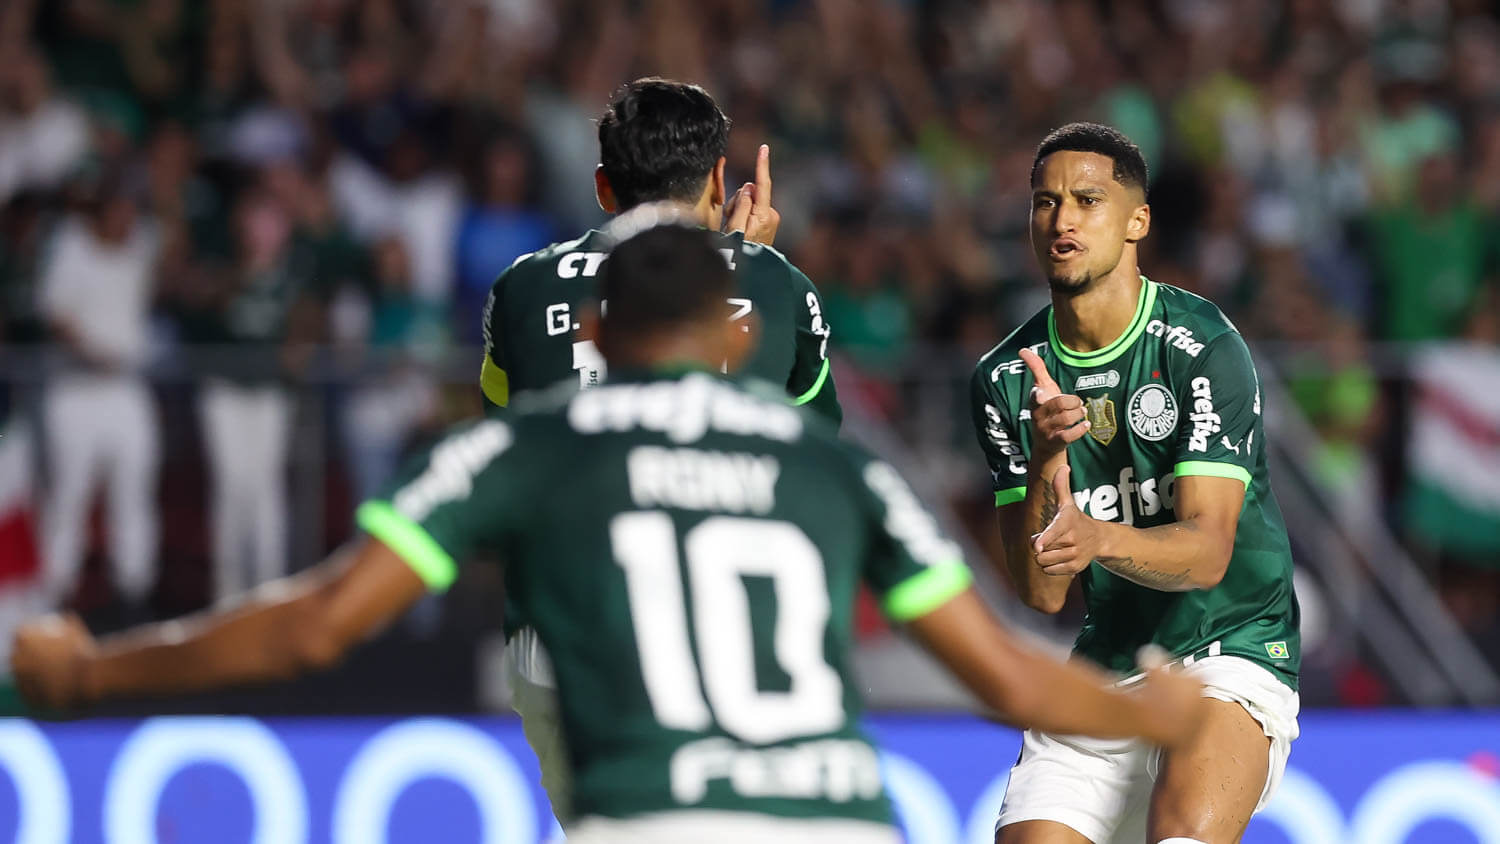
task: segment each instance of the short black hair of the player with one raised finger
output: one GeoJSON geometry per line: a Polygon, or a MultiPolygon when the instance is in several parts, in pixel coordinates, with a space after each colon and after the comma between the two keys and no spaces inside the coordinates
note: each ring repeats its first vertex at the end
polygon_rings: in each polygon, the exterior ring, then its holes
{"type": "Polygon", "coordinates": [[[598,163],[622,208],[698,199],[729,148],[729,118],[699,85],[646,76],[621,87],[598,118],[598,163]]]}

